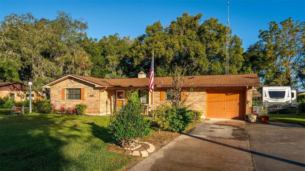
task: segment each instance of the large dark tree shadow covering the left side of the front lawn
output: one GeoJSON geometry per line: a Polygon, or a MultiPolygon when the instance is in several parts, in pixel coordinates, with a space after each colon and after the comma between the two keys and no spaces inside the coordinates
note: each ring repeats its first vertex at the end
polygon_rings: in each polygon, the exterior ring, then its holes
{"type": "Polygon", "coordinates": [[[64,127],[63,122],[65,119],[58,122],[47,115],[2,117],[1,170],[65,170],[72,166],[74,161],[64,155],[62,148],[69,139],[80,136],[59,132],[71,129],[64,127]]]}

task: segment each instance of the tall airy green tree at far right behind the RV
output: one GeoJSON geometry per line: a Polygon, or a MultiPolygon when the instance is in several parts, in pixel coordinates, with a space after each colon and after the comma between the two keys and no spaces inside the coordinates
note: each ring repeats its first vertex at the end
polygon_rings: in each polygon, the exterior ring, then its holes
{"type": "Polygon", "coordinates": [[[244,54],[243,71],[256,72],[264,85],[305,86],[305,22],[269,22],[244,54]]]}

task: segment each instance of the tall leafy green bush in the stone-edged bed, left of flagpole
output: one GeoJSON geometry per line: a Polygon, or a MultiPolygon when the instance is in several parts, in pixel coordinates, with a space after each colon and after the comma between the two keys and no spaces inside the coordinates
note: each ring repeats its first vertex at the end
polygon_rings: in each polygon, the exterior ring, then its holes
{"type": "Polygon", "coordinates": [[[150,132],[149,121],[142,114],[137,91],[126,92],[128,102],[110,116],[108,130],[122,147],[132,139],[142,138],[150,132]]]}

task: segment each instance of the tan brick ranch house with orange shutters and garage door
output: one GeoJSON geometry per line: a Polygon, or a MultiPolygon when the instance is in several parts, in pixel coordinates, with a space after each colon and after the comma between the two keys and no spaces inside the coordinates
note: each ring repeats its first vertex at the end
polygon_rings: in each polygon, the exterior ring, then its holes
{"type": "MultiPolygon", "coordinates": [[[[154,109],[162,103],[170,103],[171,78],[155,77],[154,109]]],[[[86,104],[87,114],[110,114],[126,102],[127,90],[138,89],[139,100],[152,108],[152,93],[148,92],[149,78],[144,72],[138,78],[99,79],[68,74],[42,88],[50,88],[50,100],[56,109],[86,104]],[[114,96],[114,98],[113,98],[114,96]]],[[[252,87],[260,86],[257,74],[238,75],[196,75],[186,76],[184,86],[195,89],[185,104],[192,104],[192,110],[202,111],[202,117],[244,119],[249,108],[246,100],[252,101],[252,87]]],[[[184,98],[181,93],[181,99],[184,98]]],[[[252,110],[252,104],[250,110],[252,110]]]]}

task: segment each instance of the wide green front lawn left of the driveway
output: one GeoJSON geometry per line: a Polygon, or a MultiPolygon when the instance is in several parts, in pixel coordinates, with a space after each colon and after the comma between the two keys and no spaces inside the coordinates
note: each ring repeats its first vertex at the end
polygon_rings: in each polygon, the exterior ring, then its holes
{"type": "Polygon", "coordinates": [[[113,143],[109,117],[5,113],[10,109],[0,109],[1,170],[118,170],[133,160],[106,150],[113,143]]]}

